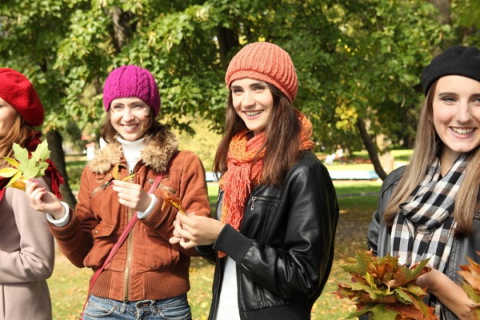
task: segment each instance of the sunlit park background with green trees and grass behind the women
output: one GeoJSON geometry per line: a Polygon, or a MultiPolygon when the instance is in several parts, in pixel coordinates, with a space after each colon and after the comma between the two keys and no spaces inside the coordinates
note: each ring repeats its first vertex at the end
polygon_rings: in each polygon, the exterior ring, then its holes
{"type": "MultiPolygon", "coordinates": [[[[370,194],[399,165],[395,152],[413,146],[424,97],[421,70],[451,45],[479,46],[479,16],[476,0],[1,0],[0,66],[34,83],[46,112],[41,130],[66,177],[61,192],[74,206],[81,155],[98,141],[109,71],[124,64],[152,71],[162,96],[159,121],[210,171],[223,128],[228,62],[247,43],[273,42],[296,66],[294,105],[313,123],[316,153],[321,158],[340,144],[352,160],[341,170],[380,177],[365,186],[335,182],[337,193],[370,194]]],[[[349,254],[364,245],[376,196],[339,201],[336,254],[349,254]]],[[[71,269],[61,257],[50,280],[54,312],[56,319],[74,319],[89,271],[71,269]]],[[[203,319],[211,269],[198,259],[192,268],[194,315],[203,319]]],[[[335,264],[313,319],[344,316],[335,312],[348,309],[346,302],[328,294],[341,276],[335,264]]]]}

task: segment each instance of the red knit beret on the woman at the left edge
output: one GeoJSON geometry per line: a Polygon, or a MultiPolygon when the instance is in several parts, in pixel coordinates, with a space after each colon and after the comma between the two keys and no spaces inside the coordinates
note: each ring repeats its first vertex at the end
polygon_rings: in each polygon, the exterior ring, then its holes
{"type": "Polygon", "coordinates": [[[0,97],[18,111],[28,126],[43,124],[44,109],[40,97],[22,73],[0,68],[0,97]]]}

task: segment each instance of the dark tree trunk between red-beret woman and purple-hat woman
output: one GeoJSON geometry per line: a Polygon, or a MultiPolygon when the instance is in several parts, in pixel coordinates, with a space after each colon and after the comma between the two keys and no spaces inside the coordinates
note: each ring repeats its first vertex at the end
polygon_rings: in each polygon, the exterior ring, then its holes
{"type": "Polygon", "coordinates": [[[73,196],[73,193],[68,184],[68,175],[66,174],[66,165],[65,165],[65,154],[64,149],[61,146],[62,138],[59,131],[50,130],[47,133],[47,142],[50,149],[50,160],[54,162],[56,168],[59,170],[62,177],[64,177],[65,184],[60,185],[60,193],[63,197],[63,201],[68,203],[70,208],[75,208],[76,198],[73,196]]]}

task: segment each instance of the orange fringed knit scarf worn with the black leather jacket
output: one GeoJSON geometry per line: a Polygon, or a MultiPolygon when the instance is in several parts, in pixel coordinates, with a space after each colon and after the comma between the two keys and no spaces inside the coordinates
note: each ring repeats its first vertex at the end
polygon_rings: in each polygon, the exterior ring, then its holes
{"type": "MultiPolygon", "coordinates": [[[[300,150],[311,150],[315,146],[315,143],[310,140],[313,132],[312,124],[304,114],[301,112],[298,114],[301,122],[300,150]]],[[[244,218],[248,196],[260,182],[265,141],[265,132],[248,140],[248,131],[242,131],[232,138],[229,145],[228,170],[220,179],[220,188],[224,191],[220,220],[222,223],[232,225],[236,230],[239,230],[241,219],[244,218]],[[253,162],[257,154],[258,160],[253,162]]]]}

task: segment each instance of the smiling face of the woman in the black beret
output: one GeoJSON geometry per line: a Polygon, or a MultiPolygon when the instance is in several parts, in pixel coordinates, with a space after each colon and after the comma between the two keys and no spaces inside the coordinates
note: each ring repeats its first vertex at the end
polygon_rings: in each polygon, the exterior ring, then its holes
{"type": "Polygon", "coordinates": [[[444,76],[433,96],[433,125],[443,142],[440,159],[453,163],[480,145],[480,82],[444,76]]]}

